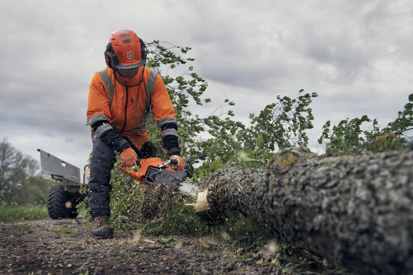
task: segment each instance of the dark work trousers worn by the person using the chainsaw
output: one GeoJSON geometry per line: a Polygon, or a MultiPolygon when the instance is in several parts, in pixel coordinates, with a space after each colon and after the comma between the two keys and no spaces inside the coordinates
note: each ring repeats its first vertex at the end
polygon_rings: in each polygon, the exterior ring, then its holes
{"type": "MultiPolygon", "coordinates": [[[[110,216],[109,193],[112,189],[112,185],[110,185],[110,172],[116,162],[116,155],[112,148],[94,135],[94,132],[92,132],[92,142],[89,212],[92,217],[98,215],[110,216]]],[[[150,141],[142,145],[141,151],[138,151],[133,144],[130,145],[136,151],[139,158],[158,156],[158,151],[150,141]]]]}

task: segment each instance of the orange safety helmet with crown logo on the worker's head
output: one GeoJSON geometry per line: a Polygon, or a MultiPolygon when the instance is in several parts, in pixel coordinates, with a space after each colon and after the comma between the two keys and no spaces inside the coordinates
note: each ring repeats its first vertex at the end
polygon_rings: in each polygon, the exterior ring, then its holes
{"type": "Polygon", "coordinates": [[[104,59],[111,69],[138,68],[146,64],[145,43],[131,30],[117,30],[110,35],[104,59]]]}

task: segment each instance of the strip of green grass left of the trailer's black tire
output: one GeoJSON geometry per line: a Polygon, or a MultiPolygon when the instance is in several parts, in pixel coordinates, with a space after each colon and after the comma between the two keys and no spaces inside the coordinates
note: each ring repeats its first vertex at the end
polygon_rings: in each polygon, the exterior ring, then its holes
{"type": "Polygon", "coordinates": [[[11,206],[0,204],[0,222],[21,220],[39,220],[48,218],[47,208],[44,205],[11,206]]]}

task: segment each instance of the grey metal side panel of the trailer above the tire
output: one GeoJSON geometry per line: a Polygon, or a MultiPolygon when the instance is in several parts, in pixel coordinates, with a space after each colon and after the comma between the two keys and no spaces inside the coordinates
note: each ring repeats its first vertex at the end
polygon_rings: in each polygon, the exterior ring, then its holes
{"type": "Polygon", "coordinates": [[[43,171],[62,178],[63,185],[80,184],[80,168],[41,149],[37,149],[37,151],[40,152],[40,164],[43,171]]]}

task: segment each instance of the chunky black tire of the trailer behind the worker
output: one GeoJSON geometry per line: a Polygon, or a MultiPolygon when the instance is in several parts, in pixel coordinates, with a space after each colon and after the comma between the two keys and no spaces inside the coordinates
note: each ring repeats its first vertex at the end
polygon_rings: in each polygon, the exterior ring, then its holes
{"type": "Polygon", "coordinates": [[[47,212],[52,219],[73,219],[78,213],[76,211],[77,200],[75,195],[65,191],[62,185],[55,185],[50,188],[47,199],[47,212]],[[69,208],[67,207],[69,206],[69,208]]]}

